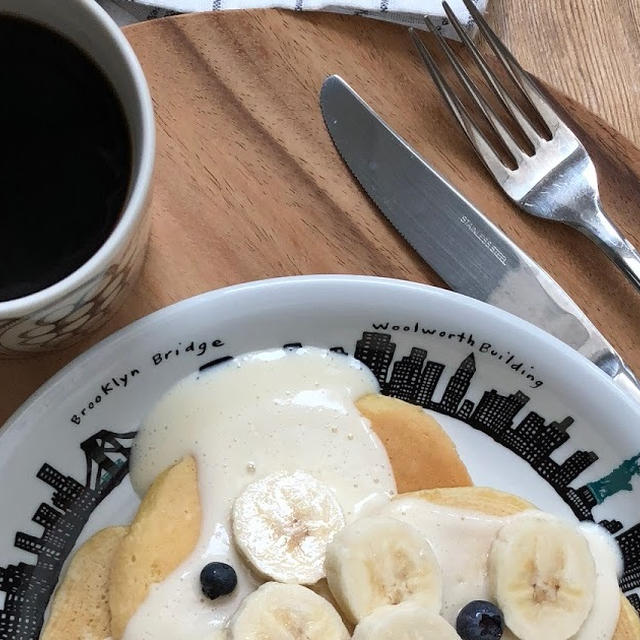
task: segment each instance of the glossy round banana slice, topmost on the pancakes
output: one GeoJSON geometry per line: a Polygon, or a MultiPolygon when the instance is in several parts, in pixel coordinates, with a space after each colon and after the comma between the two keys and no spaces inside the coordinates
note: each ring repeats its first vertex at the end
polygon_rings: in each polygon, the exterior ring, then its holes
{"type": "Polygon", "coordinates": [[[232,513],[236,545],[253,568],[277,582],[324,578],[327,545],[344,527],[333,491],[302,471],[250,484],[232,513]]]}

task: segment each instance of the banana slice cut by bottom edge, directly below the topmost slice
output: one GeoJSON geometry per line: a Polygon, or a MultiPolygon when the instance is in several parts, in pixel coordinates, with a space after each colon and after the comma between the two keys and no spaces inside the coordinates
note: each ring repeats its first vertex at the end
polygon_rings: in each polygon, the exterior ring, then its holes
{"type": "Polygon", "coordinates": [[[348,640],[338,612],[297,584],[267,582],[247,596],[229,626],[230,640],[348,640]]]}

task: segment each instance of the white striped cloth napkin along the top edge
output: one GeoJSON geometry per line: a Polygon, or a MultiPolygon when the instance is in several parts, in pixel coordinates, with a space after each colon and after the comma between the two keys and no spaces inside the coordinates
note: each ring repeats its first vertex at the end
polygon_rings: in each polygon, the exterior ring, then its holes
{"type": "MultiPolygon", "coordinates": [[[[441,0],[97,0],[120,25],[162,18],[176,13],[218,11],[224,9],[294,9],[297,11],[331,11],[387,20],[405,26],[425,28],[423,16],[428,14],[447,36],[448,28],[441,0]]],[[[469,29],[473,21],[462,0],[448,0],[449,5],[469,29]]],[[[487,0],[474,0],[481,11],[487,0]]]]}

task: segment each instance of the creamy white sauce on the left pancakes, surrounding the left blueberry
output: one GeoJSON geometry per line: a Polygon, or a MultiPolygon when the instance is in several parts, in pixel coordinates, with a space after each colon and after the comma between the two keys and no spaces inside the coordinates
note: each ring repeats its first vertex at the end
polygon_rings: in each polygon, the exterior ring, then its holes
{"type": "Polygon", "coordinates": [[[259,584],[231,539],[235,498],[254,480],[306,471],[331,487],[347,523],[395,493],[386,451],[354,401],[379,391],[358,361],[316,348],[248,354],[178,383],[142,426],[131,478],[143,495],[154,478],[194,455],[203,509],[193,553],[152,587],[124,640],[202,640],[223,627],[259,584]],[[206,599],[208,562],[232,565],[238,586],[206,599]]]}

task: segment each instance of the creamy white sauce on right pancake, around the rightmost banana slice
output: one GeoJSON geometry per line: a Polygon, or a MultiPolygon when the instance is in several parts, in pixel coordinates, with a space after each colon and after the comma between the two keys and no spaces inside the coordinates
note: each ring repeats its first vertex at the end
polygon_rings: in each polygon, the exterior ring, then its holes
{"type": "MultiPolygon", "coordinates": [[[[460,609],[472,600],[492,600],[489,589],[488,560],[491,545],[500,528],[510,519],[549,517],[540,511],[528,511],[507,517],[488,516],[473,510],[436,505],[411,496],[399,496],[382,507],[381,514],[416,527],[429,540],[442,568],[442,616],[455,626],[460,609]]],[[[596,568],[595,604],[574,636],[575,640],[610,640],[618,621],[620,590],[617,574],[620,552],[602,527],[580,524],[578,530],[587,539],[596,568]]],[[[515,636],[505,629],[504,640],[515,636]]]]}

